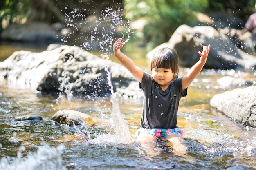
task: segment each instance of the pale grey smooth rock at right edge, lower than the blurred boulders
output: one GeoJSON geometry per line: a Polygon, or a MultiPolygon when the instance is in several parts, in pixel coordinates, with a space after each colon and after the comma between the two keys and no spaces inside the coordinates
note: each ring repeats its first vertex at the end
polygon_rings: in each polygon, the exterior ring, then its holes
{"type": "Polygon", "coordinates": [[[242,126],[256,127],[256,86],[215,95],[210,105],[242,126]]]}

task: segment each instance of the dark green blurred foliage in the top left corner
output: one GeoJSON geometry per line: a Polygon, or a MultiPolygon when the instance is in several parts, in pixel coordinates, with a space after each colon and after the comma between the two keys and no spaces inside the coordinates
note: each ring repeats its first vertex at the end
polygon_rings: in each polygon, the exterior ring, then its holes
{"type": "Polygon", "coordinates": [[[10,23],[20,23],[29,7],[29,0],[2,0],[0,2],[0,31],[10,23]]]}

